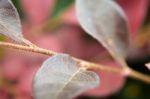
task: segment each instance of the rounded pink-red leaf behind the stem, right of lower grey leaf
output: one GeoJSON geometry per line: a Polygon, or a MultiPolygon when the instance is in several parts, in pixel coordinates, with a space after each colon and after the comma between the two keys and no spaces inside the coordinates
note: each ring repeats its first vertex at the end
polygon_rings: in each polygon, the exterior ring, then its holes
{"type": "MultiPolygon", "coordinates": [[[[96,63],[102,63],[101,60],[94,60],[96,63]]],[[[112,68],[120,68],[120,65],[113,60],[107,60],[103,62],[104,65],[110,66],[112,68]]],[[[105,71],[95,71],[97,75],[100,76],[101,83],[100,86],[88,90],[84,95],[93,97],[108,97],[119,92],[126,81],[126,77],[114,73],[108,73],[105,71]]]]}

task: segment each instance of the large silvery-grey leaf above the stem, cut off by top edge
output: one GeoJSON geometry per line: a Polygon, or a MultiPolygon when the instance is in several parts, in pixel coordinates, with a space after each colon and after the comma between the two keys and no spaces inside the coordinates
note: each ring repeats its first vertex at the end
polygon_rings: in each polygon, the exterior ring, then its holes
{"type": "Polygon", "coordinates": [[[128,26],[121,8],[111,0],[76,0],[76,12],[82,28],[126,65],[128,26]]]}

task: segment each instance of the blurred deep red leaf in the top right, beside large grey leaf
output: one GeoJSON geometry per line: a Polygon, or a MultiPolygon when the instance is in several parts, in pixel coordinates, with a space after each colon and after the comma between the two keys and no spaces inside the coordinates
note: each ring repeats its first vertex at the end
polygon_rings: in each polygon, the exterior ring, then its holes
{"type": "MultiPolygon", "coordinates": [[[[135,37],[141,27],[149,6],[149,0],[116,0],[129,20],[129,31],[135,37]]],[[[148,22],[148,21],[147,21],[148,22]]]]}

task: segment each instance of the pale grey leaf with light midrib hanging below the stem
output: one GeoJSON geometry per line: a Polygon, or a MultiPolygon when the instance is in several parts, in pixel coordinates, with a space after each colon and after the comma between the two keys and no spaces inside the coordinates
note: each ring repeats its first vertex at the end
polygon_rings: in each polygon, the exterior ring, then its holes
{"type": "Polygon", "coordinates": [[[71,99],[99,85],[94,72],[81,68],[68,55],[55,55],[46,60],[33,79],[35,99],[71,99]]]}

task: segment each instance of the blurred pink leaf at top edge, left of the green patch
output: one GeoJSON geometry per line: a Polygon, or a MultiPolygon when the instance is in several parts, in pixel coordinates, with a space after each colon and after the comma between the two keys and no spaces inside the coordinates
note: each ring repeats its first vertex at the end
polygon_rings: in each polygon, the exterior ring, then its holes
{"type": "Polygon", "coordinates": [[[55,0],[21,0],[26,22],[31,26],[38,26],[47,21],[54,7],[55,0]]]}

